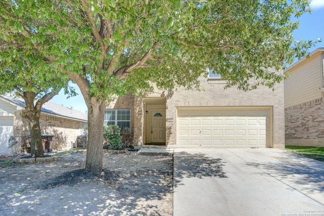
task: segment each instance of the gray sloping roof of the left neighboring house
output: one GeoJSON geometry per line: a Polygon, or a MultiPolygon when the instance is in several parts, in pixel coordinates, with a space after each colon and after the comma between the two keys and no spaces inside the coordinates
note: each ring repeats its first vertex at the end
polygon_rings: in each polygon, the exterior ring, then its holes
{"type": "MultiPolygon", "coordinates": [[[[26,108],[25,101],[21,98],[10,98],[8,96],[0,96],[0,99],[4,101],[14,103],[17,106],[26,108]]],[[[63,105],[55,104],[52,102],[46,102],[41,109],[42,112],[58,115],[61,117],[73,118],[77,120],[87,121],[88,115],[83,112],[79,112],[75,109],[65,107],[63,105]]]]}

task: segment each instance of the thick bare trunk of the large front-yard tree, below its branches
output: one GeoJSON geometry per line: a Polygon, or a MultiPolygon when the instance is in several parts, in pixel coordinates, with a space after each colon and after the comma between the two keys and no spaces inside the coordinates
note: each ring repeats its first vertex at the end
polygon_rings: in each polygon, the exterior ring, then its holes
{"type": "Polygon", "coordinates": [[[102,171],[105,103],[92,99],[89,105],[86,170],[90,170],[95,174],[100,174],[102,171]],[[89,105],[91,109],[89,109],[89,105]]]}

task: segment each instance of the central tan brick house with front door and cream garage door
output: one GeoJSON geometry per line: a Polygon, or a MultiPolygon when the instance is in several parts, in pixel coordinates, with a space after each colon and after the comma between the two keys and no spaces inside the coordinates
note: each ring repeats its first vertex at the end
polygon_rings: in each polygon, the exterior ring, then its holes
{"type": "Polygon", "coordinates": [[[217,74],[199,80],[205,91],[178,88],[120,97],[106,106],[104,123],[124,128],[139,146],[285,148],[283,82],[274,91],[260,86],[244,92],[224,90],[217,74]]]}

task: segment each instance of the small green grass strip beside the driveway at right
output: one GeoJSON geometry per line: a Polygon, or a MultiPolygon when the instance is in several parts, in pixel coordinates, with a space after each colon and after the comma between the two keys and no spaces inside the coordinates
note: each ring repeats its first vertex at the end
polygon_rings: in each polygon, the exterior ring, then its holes
{"type": "Polygon", "coordinates": [[[286,146],[286,150],[289,150],[295,154],[315,159],[324,162],[324,147],[312,147],[312,146],[286,146]]]}

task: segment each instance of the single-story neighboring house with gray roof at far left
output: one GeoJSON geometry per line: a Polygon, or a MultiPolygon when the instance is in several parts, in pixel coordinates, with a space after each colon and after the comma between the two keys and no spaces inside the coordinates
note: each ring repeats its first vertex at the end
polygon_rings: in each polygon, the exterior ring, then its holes
{"type": "MultiPolygon", "coordinates": [[[[29,124],[26,118],[25,102],[0,96],[0,154],[8,154],[7,143],[10,136],[17,138],[17,151],[26,152],[29,124]]],[[[39,119],[42,134],[54,135],[50,142],[52,149],[69,149],[87,123],[87,114],[63,105],[47,102],[42,107],[39,119]]]]}

